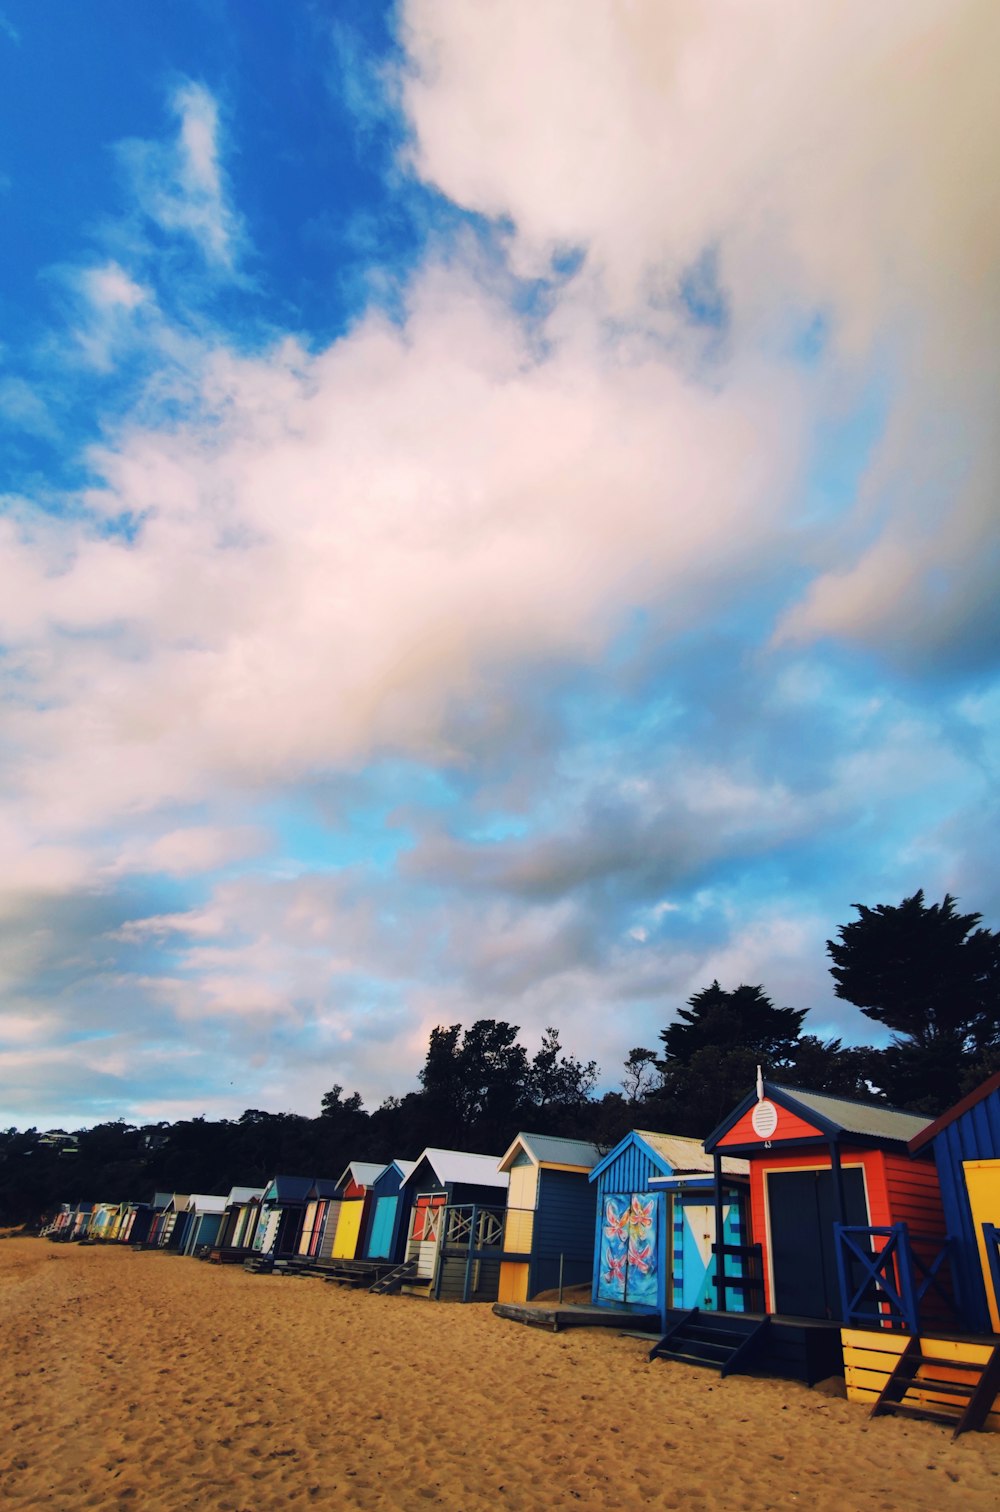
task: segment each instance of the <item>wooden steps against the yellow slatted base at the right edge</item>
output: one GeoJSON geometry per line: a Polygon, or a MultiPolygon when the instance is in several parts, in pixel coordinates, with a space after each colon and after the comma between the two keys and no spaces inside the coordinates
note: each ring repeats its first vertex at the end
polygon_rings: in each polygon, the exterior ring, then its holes
{"type": "MultiPolygon", "coordinates": [[[[933,1344],[930,1344],[933,1347],[933,1344]]],[[[980,1429],[1000,1391],[1000,1344],[985,1362],[924,1355],[914,1335],[871,1408],[871,1417],[944,1423],[952,1438],[980,1429]]]]}

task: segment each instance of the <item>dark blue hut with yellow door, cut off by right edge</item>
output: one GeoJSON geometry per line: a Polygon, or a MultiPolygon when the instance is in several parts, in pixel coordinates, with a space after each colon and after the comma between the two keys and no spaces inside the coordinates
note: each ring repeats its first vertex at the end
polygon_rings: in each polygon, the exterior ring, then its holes
{"type": "Polygon", "coordinates": [[[933,1154],[961,1325],[1000,1335],[1000,1070],[909,1142],[933,1154]]]}

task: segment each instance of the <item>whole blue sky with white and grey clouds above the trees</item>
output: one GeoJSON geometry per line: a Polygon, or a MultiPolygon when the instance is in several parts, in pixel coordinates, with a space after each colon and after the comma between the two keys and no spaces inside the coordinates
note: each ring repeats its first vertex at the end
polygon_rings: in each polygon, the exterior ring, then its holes
{"type": "Polygon", "coordinates": [[[0,1125],[1000,922],[995,0],[0,0],[0,1125]]]}

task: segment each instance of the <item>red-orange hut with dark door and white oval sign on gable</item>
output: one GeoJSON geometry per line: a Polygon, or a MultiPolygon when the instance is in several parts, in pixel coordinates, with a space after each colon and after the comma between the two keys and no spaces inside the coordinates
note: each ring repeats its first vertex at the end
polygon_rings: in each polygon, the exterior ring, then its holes
{"type": "Polygon", "coordinates": [[[710,1134],[707,1151],[750,1163],[766,1312],[844,1321],[835,1225],[906,1222],[941,1247],[933,1161],[911,1160],[908,1149],[927,1123],[926,1114],[759,1078],[710,1134]]]}

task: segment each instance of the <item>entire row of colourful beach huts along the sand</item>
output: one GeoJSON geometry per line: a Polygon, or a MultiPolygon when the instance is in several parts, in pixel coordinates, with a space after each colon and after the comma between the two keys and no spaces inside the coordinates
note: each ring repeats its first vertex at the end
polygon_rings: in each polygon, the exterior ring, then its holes
{"type": "Polygon", "coordinates": [[[1000,1074],[935,1120],[758,1075],[705,1142],[522,1132],[502,1157],[65,1205],[44,1232],[625,1326],[651,1359],[843,1373],[873,1414],[1000,1430],[1000,1074]]]}

